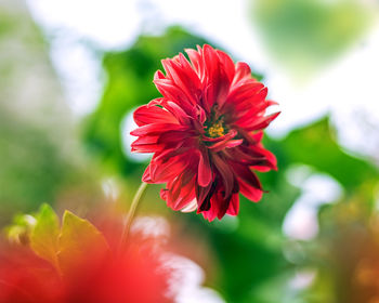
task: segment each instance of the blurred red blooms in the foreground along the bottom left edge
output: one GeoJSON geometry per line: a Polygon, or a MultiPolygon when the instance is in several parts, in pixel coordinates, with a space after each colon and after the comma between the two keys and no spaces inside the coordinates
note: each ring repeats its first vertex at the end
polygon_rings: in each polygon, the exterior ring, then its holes
{"type": "MultiPolygon", "coordinates": [[[[75,252],[74,252],[75,253],[75,252]]],[[[88,250],[58,273],[21,246],[1,247],[0,303],[169,303],[169,273],[156,255],[131,246],[121,256],[88,250]]]]}

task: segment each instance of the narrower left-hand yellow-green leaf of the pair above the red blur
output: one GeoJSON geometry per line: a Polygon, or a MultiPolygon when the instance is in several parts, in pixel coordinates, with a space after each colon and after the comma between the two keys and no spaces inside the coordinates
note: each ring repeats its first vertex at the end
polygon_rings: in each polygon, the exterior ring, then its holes
{"type": "Polygon", "coordinates": [[[37,223],[30,234],[30,248],[40,258],[57,265],[56,253],[60,235],[60,220],[49,205],[42,205],[37,223]]]}

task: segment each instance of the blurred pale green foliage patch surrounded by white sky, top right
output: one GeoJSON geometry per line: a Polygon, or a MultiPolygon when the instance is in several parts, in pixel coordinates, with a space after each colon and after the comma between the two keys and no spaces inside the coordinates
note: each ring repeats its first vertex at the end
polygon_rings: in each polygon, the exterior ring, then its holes
{"type": "Polygon", "coordinates": [[[266,49],[296,71],[337,57],[367,29],[373,12],[361,0],[251,0],[251,18],[266,49]]]}

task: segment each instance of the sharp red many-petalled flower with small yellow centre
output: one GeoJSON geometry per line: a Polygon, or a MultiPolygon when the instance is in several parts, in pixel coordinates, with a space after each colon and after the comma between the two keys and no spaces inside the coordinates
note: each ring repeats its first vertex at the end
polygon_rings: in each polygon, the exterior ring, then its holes
{"type": "Polygon", "coordinates": [[[143,181],[167,183],[161,198],[173,210],[197,208],[209,221],[236,215],[239,192],[262,197],[253,170],[276,169],[261,140],[279,113],[264,116],[275,103],[246,63],[207,44],[186,53],[191,62],[181,53],[162,61],[166,76],[155,74],[162,97],[135,110],[132,150],[154,153],[143,181]]]}

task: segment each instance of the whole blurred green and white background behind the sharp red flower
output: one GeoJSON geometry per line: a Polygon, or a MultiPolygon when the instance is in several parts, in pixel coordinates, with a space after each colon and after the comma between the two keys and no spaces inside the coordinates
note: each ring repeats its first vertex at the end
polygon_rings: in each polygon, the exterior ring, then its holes
{"type": "Polygon", "coordinates": [[[376,0],[0,0],[0,226],[43,202],[125,213],[148,162],[130,153],[132,110],[158,96],[161,58],[210,43],[279,103],[265,137],[279,170],[212,223],[148,187],[138,222],[180,242],[177,301],[378,303],[378,14],[376,0]]]}

